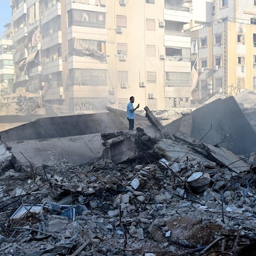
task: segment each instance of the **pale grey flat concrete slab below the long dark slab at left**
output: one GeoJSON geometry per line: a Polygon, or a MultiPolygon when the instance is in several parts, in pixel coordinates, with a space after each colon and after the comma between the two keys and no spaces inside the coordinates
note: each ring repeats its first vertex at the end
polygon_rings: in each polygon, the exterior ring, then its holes
{"type": "Polygon", "coordinates": [[[12,147],[11,152],[23,166],[30,166],[28,161],[35,166],[51,165],[63,160],[72,164],[83,164],[100,157],[103,153],[100,134],[43,140],[20,140],[7,142],[7,145],[12,147]]]}

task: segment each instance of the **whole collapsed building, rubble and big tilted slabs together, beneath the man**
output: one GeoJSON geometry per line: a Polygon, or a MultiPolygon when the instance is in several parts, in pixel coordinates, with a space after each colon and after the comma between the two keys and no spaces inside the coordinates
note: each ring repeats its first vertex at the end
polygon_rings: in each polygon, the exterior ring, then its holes
{"type": "Polygon", "coordinates": [[[108,111],[1,132],[0,255],[255,255],[256,134],[233,97],[166,126],[145,107],[133,131],[108,111]]]}

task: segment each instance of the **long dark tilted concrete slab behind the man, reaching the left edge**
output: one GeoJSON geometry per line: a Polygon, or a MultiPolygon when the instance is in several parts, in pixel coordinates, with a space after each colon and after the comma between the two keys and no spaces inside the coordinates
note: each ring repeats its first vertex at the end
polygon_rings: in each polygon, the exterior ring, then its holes
{"type": "MultiPolygon", "coordinates": [[[[150,126],[144,116],[137,114],[135,127],[150,126]]],[[[17,140],[39,140],[61,137],[127,130],[129,127],[125,111],[111,111],[73,116],[44,117],[1,132],[4,142],[17,140]]]]}

